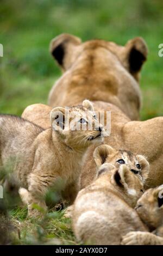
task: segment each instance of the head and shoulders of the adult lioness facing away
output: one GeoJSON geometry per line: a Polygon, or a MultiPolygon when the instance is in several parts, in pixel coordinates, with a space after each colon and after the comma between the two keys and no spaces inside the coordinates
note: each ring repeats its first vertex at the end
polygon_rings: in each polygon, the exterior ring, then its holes
{"type": "Polygon", "coordinates": [[[49,105],[76,105],[84,99],[110,102],[132,120],[139,119],[139,71],[147,58],[143,39],[125,46],[104,40],[83,44],[76,36],[54,38],[50,51],[64,70],[49,94],[49,105]]]}

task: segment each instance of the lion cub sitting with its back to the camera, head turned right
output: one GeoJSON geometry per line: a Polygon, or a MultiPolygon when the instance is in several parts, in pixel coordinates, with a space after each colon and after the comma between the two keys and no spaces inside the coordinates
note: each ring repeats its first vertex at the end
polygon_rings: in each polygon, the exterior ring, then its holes
{"type": "Polygon", "coordinates": [[[97,179],[81,190],[74,202],[72,219],[77,239],[95,245],[120,245],[128,231],[146,231],[132,209],[142,193],[143,181],[126,164],[118,169],[102,164],[97,179]]]}

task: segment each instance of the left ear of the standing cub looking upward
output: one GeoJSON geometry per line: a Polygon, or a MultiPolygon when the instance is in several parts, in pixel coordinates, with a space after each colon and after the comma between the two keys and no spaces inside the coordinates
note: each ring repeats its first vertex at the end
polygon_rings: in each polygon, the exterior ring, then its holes
{"type": "Polygon", "coordinates": [[[51,125],[54,130],[64,130],[65,127],[65,108],[55,107],[50,113],[51,125]]]}

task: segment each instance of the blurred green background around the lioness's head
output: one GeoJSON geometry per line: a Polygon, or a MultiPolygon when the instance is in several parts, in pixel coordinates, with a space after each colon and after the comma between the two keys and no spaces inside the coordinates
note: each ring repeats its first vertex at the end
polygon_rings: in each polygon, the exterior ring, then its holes
{"type": "Polygon", "coordinates": [[[53,83],[61,75],[48,52],[61,33],[105,39],[117,44],[142,36],[149,47],[142,70],[141,119],[162,115],[163,43],[162,0],[1,0],[0,112],[21,115],[33,103],[47,103],[53,83]]]}

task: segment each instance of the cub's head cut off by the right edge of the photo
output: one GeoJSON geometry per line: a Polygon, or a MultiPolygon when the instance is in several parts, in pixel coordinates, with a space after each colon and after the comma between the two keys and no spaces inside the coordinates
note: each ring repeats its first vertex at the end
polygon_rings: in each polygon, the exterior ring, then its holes
{"type": "Polygon", "coordinates": [[[163,222],[163,185],[149,188],[137,201],[135,209],[151,231],[159,227],[163,222]]]}

